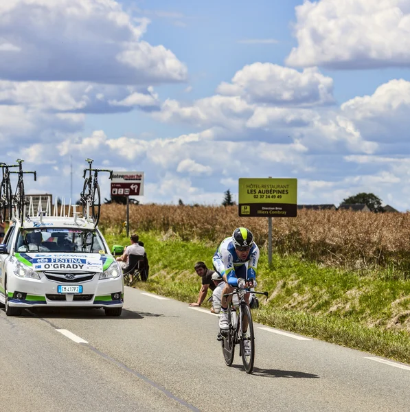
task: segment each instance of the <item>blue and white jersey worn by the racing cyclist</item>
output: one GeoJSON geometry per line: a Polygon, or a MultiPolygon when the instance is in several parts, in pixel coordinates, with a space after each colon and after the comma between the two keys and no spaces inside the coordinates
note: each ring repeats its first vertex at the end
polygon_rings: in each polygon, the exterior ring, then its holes
{"type": "Polygon", "coordinates": [[[225,238],[214,254],[212,262],[215,270],[220,275],[227,275],[231,286],[238,285],[238,277],[242,279],[255,279],[256,268],[259,260],[259,248],[253,243],[246,260],[240,260],[236,254],[232,238],[225,238]]]}

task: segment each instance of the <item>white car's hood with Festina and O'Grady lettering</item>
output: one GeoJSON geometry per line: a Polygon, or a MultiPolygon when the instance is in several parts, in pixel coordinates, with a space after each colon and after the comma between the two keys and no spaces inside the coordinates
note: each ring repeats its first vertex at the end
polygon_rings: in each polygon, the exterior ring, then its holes
{"type": "Polygon", "coordinates": [[[14,256],[34,271],[102,272],[114,262],[113,256],[100,253],[15,253],[14,256]]]}

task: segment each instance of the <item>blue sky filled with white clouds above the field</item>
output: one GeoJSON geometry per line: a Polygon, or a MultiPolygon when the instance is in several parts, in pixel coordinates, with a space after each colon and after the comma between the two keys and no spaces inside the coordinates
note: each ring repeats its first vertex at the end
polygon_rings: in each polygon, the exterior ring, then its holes
{"type": "Polygon", "coordinates": [[[273,176],[299,204],[406,211],[409,67],[410,0],[3,1],[1,161],[74,201],[90,157],[144,172],[141,203],[220,204],[273,176]]]}

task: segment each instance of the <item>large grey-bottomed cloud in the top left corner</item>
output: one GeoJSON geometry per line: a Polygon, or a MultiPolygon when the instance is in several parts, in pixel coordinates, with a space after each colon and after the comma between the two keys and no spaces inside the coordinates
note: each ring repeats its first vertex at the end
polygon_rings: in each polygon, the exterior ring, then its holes
{"type": "Polygon", "coordinates": [[[3,1],[0,38],[19,52],[0,51],[0,76],[140,85],[185,81],[187,69],[170,50],[141,41],[148,23],[132,19],[114,0],[3,1]]]}

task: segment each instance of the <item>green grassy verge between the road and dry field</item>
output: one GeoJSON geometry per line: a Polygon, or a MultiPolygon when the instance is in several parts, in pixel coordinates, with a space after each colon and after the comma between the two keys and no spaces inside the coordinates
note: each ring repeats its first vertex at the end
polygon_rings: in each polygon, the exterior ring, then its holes
{"type": "MultiPolygon", "coordinates": [[[[129,244],[107,231],[107,242],[129,244]]],[[[185,242],[178,236],[139,233],[150,261],[148,282],[138,288],[185,302],[196,301],[201,278],[194,264],[212,267],[216,244],[185,242]]],[[[410,280],[396,279],[389,269],[367,273],[320,267],[297,255],[273,255],[269,267],[262,251],[258,264],[260,299],[255,321],[410,363],[410,280]]],[[[208,295],[209,296],[209,295],[208,295]]],[[[209,305],[204,305],[209,306],[209,305]]]]}

